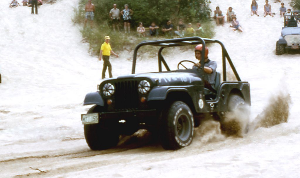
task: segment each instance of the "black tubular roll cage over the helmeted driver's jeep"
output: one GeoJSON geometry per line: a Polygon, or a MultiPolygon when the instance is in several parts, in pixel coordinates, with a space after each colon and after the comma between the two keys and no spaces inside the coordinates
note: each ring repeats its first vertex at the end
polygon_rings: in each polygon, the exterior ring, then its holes
{"type": "MultiPolygon", "coordinates": [[[[196,44],[202,44],[202,54],[205,54],[205,44],[208,43],[218,43],[222,47],[222,64],[223,64],[223,81],[226,81],[226,59],[236,77],[236,79],[240,82],[241,79],[238,76],[237,71],[235,70],[235,67],[225,49],[225,46],[222,42],[219,40],[213,40],[208,38],[201,38],[201,37],[184,37],[184,38],[174,38],[174,39],[167,39],[167,40],[147,40],[139,43],[135,49],[134,49],[134,55],[133,55],[133,62],[132,62],[132,71],[131,73],[135,73],[135,66],[137,61],[137,51],[141,46],[145,45],[151,45],[151,46],[160,46],[161,48],[158,50],[158,69],[159,72],[162,72],[161,63],[164,64],[164,67],[167,69],[167,71],[170,71],[169,66],[167,65],[167,62],[164,60],[164,57],[161,55],[161,52],[166,47],[175,47],[175,46],[187,46],[187,45],[196,45],[196,44]]],[[[204,72],[204,55],[201,55],[201,61],[200,61],[201,67],[200,70],[204,72]]]]}

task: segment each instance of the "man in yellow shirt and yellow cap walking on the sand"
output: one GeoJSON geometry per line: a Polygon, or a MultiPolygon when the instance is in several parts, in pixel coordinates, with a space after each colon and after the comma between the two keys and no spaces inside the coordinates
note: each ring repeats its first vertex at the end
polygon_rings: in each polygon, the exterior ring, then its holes
{"type": "Polygon", "coordinates": [[[101,61],[101,58],[103,59],[103,70],[102,70],[102,79],[105,78],[105,72],[108,67],[108,73],[110,78],[113,77],[112,75],[112,65],[110,64],[110,53],[115,55],[116,57],[119,57],[115,52],[113,52],[112,48],[110,47],[110,37],[106,36],[104,37],[105,42],[101,45],[100,54],[99,54],[99,61],[101,61]]]}

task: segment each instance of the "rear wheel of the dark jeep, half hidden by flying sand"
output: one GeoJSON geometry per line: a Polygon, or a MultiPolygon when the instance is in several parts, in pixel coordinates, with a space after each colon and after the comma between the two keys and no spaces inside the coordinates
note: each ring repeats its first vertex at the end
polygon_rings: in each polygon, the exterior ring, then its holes
{"type": "Polygon", "coordinates": [[[245,100],[236,94],[229,96],[228,111],[221,117],[221,130],[226,135],[243,137],[249,130],[250,111],[245,100]]]}

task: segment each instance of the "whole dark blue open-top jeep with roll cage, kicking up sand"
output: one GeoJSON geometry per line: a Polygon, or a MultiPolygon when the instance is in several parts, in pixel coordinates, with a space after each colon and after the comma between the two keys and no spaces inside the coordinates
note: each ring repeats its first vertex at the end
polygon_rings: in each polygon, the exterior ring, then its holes
{"type": "MultiPolygon", "coordinates": [[[[204,66],[204,55],[200,64],[204,66]]],[[[250,105],[250,85],[241,81],[223,43],[218,40],[200,37],[150,40],[136,46],[131,74],[102,81],[98,91],[85,96],[84,105],[93,105],[81,116],[85,139],[92,150],[116,146],[120,135],[132,135],[139,129],[155,132],[164,149],[176,150],[192,142],[194,127],[206,116],[220,121],[221,129],[228,134],[247,132],[247,123],[238,129],[228,124],[226,113],[243,112],[244,106],[250,105]],[[198,44],[202,44],[204,54],[208,43],[217,43],[222,49],[223,81],[217,73],[215,93],[204,87],[204,67],[192,69],[190,64],[188,68],[184,63],[192,61],[183,60],[177,65],[178,70],[170,70],[162,55],[170,47],[198,44]],[[146,45],[158,46],[158,71],[136,74],[137,51],[146,45]],[[236,81],[226,80],[226,64],[236,81]],[[180,66],[185,69],[179,69],[180,66]]],[[[229,123],[236,126],[239,119],[241,116],[229,123]]]]}

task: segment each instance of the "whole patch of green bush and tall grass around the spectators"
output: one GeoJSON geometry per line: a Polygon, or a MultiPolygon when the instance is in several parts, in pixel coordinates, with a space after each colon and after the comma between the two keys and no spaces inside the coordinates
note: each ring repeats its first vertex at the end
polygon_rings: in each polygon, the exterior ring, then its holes
{"type": "MultiPolygon", "coordinates": [[[[86,3],[87,0],[81,0],[78,9],[74,9],[72,18],[74,23],[84,23],[86,3]]],[[[112,39],[110,43],[114,51],[134,49],[137,43],[147,40],[147,38],[137,38],[136,35],[132,35],[135,34],[139,22],[143,22],[144,27],[149,27],[152,21],[161,27],[167,19],[173,21],[174,27],[176,27],[178,19],[183,19],[186,24],[189,22],[193,24],[202,22],[201,26],[205,31],[202,37],[212,38],[214,36],[213,25],[209,20],[211,14],[208,7],[209,0],[93,0],[92,3],[95,5],[93,28],[88,28],[89,24],[87,24],[87,28],[81,30],[84,41],[90,44],[92,54],[97,55],[99,53],[100,46],[107,35],[112,39]],[[120,10],[124,9],[124,4],[128,4],[129,8],[134,11],[131,20],[131,31],[133,33],[124,34],[112,31],[109,12],[113,8],[113,4],[117,4],[117,8],[120,10]]],[[[196,28],[196,25],[193,25],[193,27],[196,28]]],[[[120,30],[122,29],[123,25],[121,23],[120,30]]],[[[174,37],[178,36],[174,35],[174,37]]]]}

